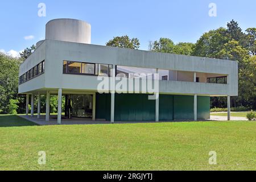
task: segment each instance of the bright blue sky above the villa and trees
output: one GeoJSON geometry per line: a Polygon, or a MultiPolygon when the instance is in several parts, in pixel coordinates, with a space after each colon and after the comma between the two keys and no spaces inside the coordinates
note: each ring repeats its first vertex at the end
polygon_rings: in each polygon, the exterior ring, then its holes
{"type": "Polygon", "coordinates": [[[0,50],[13,55],[44,39],[45,24],[55,18],[92,24],[92,44],[105,45],[114,36],[129,35],[138,38],[144,50],[150,40],[161,37],[195,43],[204,32],[225,27],[232,19],[243,30],[256,27],[255,0],[2,0],[0,7],[0,50]],[[46,4],[46,17],[38,16],[41,2],[46,4]],[[216,17],[208,15],[209,3],[216,3],[216,17]]]}

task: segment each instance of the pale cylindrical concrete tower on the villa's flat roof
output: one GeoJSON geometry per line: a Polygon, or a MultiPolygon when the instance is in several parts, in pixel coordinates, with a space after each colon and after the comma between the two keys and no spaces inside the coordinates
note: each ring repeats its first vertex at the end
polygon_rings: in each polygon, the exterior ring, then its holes
{"type": "Polygon", "coordinates": [[[46,24],[46,39],[90,44],[91,26],[77,19],[53,19],[46,24]]]}

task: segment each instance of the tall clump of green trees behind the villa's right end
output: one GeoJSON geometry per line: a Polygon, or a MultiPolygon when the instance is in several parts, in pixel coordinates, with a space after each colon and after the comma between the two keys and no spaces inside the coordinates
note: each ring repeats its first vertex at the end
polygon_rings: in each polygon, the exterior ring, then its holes
{"type": "MultiPolygon", "coordinates": [[[[238,23],[232,20],[227,24],[227,29],[218,28],[201,36],[192,55],[237,60],[239,96],[232,97],[232,106],[255,108],[255,85],[251,81],[255,72],[251,70],[253,61],[250,59],[250,55],[255,53],[255,29],[248,28],[246,32],[247,34],[243,33],[238,23]]],[[[226,98],[213,97],[211,103],[212,107],[224,107],[226,98]]]]}

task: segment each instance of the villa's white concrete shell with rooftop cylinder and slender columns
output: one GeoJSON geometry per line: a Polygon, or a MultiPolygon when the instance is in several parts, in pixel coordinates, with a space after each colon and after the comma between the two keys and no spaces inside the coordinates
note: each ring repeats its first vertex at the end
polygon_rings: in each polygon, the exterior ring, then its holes
{"type": "MultiPolygon", "coordinates": [[[[19,85],[19,94],[47,94],[46,120],[49,121],[49,95],[59,95],[59,114],[61,114],[61,95],[63,93],[98,92],[97,76],[68,75],[63,73],[63,61],[84,63],[111,64],[139,68],[170,70],[175,81],[160,80],[159,94],[183,94],[195,96],[237,96],[238,95],[238,62],[231,60],[210,59],[204,57],[174,55],[134,49],[97,46],[90,43],[90,25],[79,20],[59,19],[47,24],[46,40],[40,42],[36,50],[20,65],[19,76],[29,71],[44,60],[44,73],[19,85]],[[75,30],[67,30],[60,35],[57,31],[65,28],[65,22],[75,24],[75,30]],[[53,24],[52,24],[53,23],[53,24]],[[68,32],[85,32],[76,38],[67,36],[68,32]],[[62,39],[63,38],[63,39],[62,39]],[[63,41],[64,40],[64,41],[63,41]],[[228,77],[227,84],[207,83],[207,77],[222,75],[228,77]],[[196,82],[196,78],[200,82],[196,82]]],[[[113,73],[115,75],[115,73],[113,73]]],[[[132,78],[125,78],[130,80],[132,78]]],[[[111,121],[114,122],[114,93],[112,92],[111,121]]],[[[140,90],[134,90],[139,92],[140,90]]],[[[158,103],[156,101],[156,121],[158,121],[158,103]]],[[[95,101],[93,103],[95,107],[95,101]]],[[[194,105],[196,109],[196,103],[194,105]]],[[[93,111],[95,119],[95,110],[93,111]]],[[[196,114],[196,113],[195,113],[196,114]]],[[[196,115],[195,115],[196,120],[196,115]]],[[[58,115],[61,122],[61,115],[58,115]]]]}

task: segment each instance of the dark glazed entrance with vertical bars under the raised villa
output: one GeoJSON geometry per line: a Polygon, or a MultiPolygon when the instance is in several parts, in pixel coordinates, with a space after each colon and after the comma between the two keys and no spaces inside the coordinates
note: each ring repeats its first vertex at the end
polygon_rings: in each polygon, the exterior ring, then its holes
{"type": "Polygon", "coordinates": [[[72,117],[93,118],[93,95],[72,94],[69,99],[71,100],[72,117]]]}

